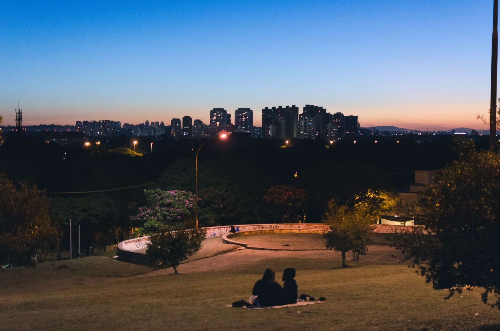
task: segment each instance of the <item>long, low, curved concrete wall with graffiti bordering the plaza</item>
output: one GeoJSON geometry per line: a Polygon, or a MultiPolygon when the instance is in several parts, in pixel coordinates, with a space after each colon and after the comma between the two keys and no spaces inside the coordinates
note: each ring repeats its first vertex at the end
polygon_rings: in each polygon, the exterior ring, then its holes
{"type": "MultiPolygon", "coordinates": [[[[270,230],[270,229],[310,229],[328,231],[329,228],[323,223],[282,223],[282,224],[243,224],[235,225],[236,231],[270,230]]],[[[394,233],[411,232],[412,226],[373,224],[373,232],[394,233]]],[[[206,230],[206,237],[221,237],[230,233],[230,226],[218,226],[202,228],[206,230]]],[[[149,236],[128,239],[118,244],[118,258],[120,260],[149,264],[147,254],[139,253],[137,250],[146,248],[149,236]]]]}

